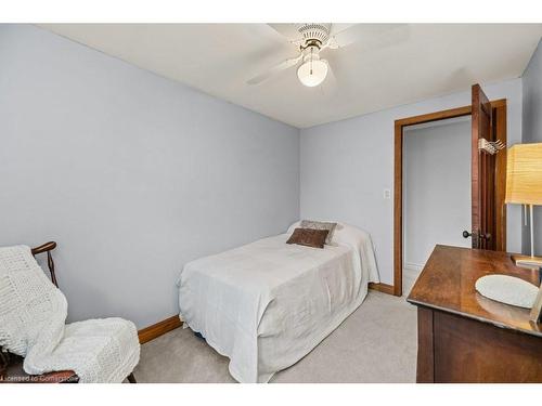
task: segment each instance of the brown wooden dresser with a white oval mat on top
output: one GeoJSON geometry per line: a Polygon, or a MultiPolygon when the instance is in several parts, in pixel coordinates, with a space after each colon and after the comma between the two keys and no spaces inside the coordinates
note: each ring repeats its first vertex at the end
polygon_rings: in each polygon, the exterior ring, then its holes
{"type": "Polygon", "coordinates": [[[483,275],[534,285],[508,253],[437,246],[408,301],[417,306],[417,382],[542,382],[542,324],[476,292],[483,275]]]}

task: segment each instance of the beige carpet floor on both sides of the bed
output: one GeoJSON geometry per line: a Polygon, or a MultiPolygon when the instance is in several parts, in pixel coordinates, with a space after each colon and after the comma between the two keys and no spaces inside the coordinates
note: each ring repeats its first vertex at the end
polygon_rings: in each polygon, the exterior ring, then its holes
{"type": "MultiPolygon", "coordinates": [[[[415,307],[371,291],[320,345],[271,382],[414,382],[415,372],[415,307]]],[[[228,358],[181,328],[142,345],[134,375],[138,382],[234,382],[228,358]]]]}

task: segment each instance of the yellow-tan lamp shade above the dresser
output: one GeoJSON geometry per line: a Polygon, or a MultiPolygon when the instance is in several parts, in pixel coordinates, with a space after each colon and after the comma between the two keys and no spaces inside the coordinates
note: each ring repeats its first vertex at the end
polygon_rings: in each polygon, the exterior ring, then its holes
{"type": "Polygon", "coordinates": [[[505,201],[542,205],[542,143],[517,144],[508,149],[505,201]]]}

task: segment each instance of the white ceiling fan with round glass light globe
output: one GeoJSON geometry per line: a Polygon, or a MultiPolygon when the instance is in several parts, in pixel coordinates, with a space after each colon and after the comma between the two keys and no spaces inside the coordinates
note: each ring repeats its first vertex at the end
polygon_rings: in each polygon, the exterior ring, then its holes
{"type": "Polygon", "coordinates": [[[248,84],[259,84],[280,71],[301,63],[297,68],[297,77],[302,84],[312,88],[321,84],[331,70],[328,62],[320,55],[323,50],[338,50],[357,41],[374,42],[375,35],[380,44],[386,40],[389,42],[389,39],[392,42],[405,39],[403,34],[395,39],[388,35],[391,31],[398,34],[398,28],[405,28],[404,24],[353,24],[345,29],[341,29],[344,24],[330,23],[270,24],[270,26],[297,45],[299,54],[255,76],[247,81],[248,84]]]}

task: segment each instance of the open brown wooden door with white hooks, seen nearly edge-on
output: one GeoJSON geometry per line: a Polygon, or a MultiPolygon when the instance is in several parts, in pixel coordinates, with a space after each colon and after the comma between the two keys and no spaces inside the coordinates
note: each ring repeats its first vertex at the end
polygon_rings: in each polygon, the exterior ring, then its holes
{"type": "Polygon", "coordinates": [[[495,156],[480,150],[481,139],[495,141],[492,106],[479,84],[473,86],[472,142],[472,245],[494,250],[495,156]]]}

